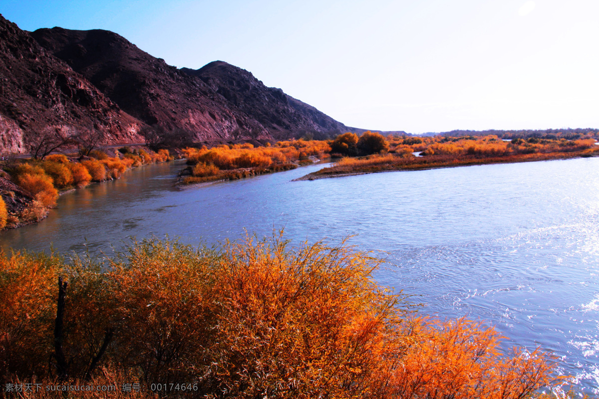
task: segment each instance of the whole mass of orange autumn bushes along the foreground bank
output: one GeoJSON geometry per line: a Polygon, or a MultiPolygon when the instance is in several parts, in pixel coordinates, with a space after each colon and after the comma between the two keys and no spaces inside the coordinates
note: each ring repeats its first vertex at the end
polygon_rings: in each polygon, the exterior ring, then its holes
{"type": "Polygon", "coordinates": [[[104,264],[0,257],[0,382],[126,376],[222,398],[522,398],[555,385],[539,351],[502,354],[480,323],[418,317],[374,282],[378,264],[280,236],[145,240],[104,264]]]}

